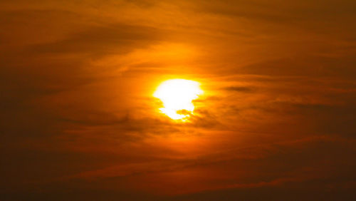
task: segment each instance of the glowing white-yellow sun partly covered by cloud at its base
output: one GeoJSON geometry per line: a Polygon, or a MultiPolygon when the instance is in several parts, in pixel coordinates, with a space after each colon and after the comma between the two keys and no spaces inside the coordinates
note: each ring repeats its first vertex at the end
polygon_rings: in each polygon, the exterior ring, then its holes
{"type": "Polygon", "coordinates": [[[174,120],[186,120],[194,110],[192,100],[199,98],[203,91],[200,83],[184,79],[173,79],[161,83],[153,96],[162,100],[162,113],[174,120]]]}

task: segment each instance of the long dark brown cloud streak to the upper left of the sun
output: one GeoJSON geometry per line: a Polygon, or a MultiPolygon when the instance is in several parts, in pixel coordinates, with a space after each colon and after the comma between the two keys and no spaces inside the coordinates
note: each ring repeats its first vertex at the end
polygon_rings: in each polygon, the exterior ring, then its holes
{"type": "Polygon", "coordinates": [[[127,53],[162,40],[162,31],[147,26],[114,24],[75,33],[63,41],[37,45],[29,51],[38,53],[127,53]]]}

